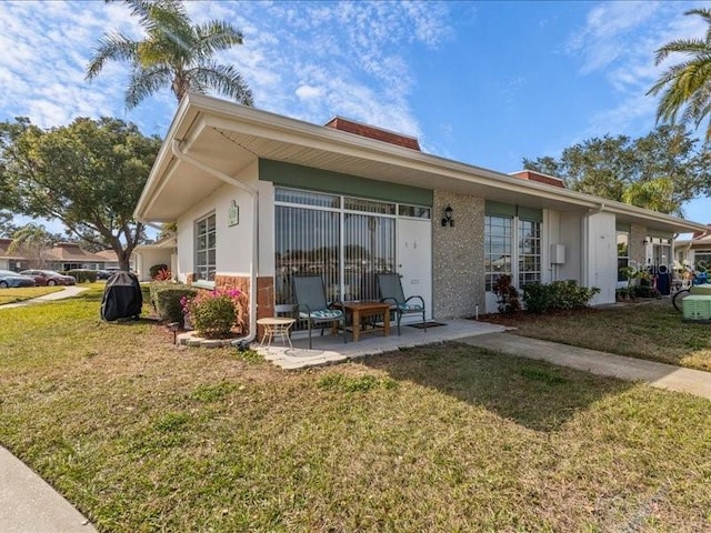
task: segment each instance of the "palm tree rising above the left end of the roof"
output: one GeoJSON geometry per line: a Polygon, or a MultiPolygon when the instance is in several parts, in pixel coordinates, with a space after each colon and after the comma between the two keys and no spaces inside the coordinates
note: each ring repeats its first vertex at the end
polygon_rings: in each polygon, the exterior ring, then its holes
{"type": "Polygon", "coordinates": [[[179,0],[124,0],[139,18],[147,37],[134,41],[104,33],[87,67],[87,79],[96,78],[109,60],[131,63],[126,105],[132,109],[146,97],[170,87],[178,101],[191,92],[212,89],[244,105],[252,105],[252,92],[232,66],[211,60],[220,50],[242,44],[242,33],[218,20],[192,24],[179,0]]]}

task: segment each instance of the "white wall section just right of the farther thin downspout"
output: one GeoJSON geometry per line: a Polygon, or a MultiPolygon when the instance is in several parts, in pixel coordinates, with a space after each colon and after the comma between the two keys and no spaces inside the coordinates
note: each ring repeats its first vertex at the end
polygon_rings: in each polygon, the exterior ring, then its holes
{"type": "Polygon", "coordinates": [[[590,303],[613,303],[618,282],[615,217],[613,213],[590,214],[587,228],[588,261],[587,265],[583,265],[584,284],[600,289],[600,293],[590,303]]]}

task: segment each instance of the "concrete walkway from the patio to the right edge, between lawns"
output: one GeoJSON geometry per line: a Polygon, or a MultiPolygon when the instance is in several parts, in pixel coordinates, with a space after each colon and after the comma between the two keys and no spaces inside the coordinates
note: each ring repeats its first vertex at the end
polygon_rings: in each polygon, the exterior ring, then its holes
{"type": "Polygon", "coordinates": [[[512,333],[478,335],[459,342],[521,358],[548,361],[593,374],[643,381],[658,389],[687,392],[711,400],[710,372],[540,341],[512,333]]]}

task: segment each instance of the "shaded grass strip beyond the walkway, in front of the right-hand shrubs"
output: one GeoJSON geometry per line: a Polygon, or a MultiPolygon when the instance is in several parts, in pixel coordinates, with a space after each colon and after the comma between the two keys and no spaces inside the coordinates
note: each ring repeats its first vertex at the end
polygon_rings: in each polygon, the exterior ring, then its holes
{"type": "Polygon", "coordinates": [[[684,323],[670,299],[494,319],[513,333],[711,372],[711,325],[684,323]]]}

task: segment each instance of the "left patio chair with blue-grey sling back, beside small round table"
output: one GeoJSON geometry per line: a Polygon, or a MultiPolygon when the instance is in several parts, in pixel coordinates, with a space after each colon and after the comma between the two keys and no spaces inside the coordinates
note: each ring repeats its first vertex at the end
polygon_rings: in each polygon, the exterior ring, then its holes
{"type": "MultiPolygon", "coordinates": [[[[311,329],[319,324],[331,324],[333,331],[343,329],[343,342],[346,340],[346,314],[340,309],[330,309],[326,300],[326,289],[320,275],[294,275],[292,278],[294,309],[300,319],[306,320],[309,326],[309,350],[312,348],[311,329]]],[[[321,328],[321,335],[326,325],[321,328]]]]}

